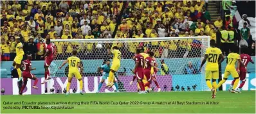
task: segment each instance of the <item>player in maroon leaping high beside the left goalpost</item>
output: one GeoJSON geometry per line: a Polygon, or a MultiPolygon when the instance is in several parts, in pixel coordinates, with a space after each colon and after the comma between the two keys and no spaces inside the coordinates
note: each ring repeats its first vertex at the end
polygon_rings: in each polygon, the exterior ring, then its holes
{"type": "Polygon", "coordinates": [[[55,45],[51,44],[51,40],[50,38],[46,39],[46,53],[44,54],[44,56],[41,56],[41,58],[44,58],[44,83],[47,82],[48,79],[51,79],[50,77],[50,69],[49,66],[51,65],[51,61],[53,61],[54,59],[54,55],[55,55],[55,45]]]}

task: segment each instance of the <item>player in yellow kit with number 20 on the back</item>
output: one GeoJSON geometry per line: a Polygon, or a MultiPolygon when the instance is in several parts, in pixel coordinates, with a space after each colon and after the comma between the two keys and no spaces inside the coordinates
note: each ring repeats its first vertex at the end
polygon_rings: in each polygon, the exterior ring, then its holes
{"type": "Polygon", "coordinates": [[[221,52],[221,49],[215,47],[215,40],[210,40],[210,47],[206,49],[205,58],[201,63],[200,71],[207,61],[205,67],[205,79],[206,85],[212,90],[212,98],[215,98],[215,91],[217,86],[216,79],[219,79],[219,63],[221,63],[223,60],[224,56],[221,52]],[[219,56],[221,56],[221,59],[218,61],[219,56]]]}

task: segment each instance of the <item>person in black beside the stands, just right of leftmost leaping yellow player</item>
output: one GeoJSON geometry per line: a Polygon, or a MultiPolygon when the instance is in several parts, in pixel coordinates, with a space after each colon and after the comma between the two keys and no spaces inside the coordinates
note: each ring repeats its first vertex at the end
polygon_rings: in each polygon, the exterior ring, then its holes
{"type": "Polygon", "coordinates": [[[32,54],[33,60],[36,58],[37,45],[33,42],[33,38],[30,38],[29,42],[24,44],[24,51],[25,54],[32,54]]]}

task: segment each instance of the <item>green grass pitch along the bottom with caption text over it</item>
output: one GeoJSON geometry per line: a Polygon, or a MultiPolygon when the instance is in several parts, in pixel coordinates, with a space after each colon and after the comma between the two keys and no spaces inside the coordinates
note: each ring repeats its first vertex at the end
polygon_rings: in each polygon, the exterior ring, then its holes
{"type": "MultiPolygon", "coordinates": [[[[242,91],[242,94],[217,92],[216,99],[210,98],[211,92],[160,92],[149,94],[51,94],[51,95],[1,95],[1,113],[255,113],[255,91],[242,91]],[[3,104],[4,102],[89,102],[89,104],[46,105],[71,106],[73,109],[21,109],[4,110],[5,106],[29,106],[22,104],[3,104]],[[109,101],[113,104],[91,104],[91,101],[109,101]],[[119,102],[128,104],[119,104],[119,102]],[[133,102],[134,104],[131,104],[133,102]],[[154,104],[152,104],[154,102],[154,104]],[[157,104],[167,102],[167,104],[157,104]],[[176,102],[176,104],[174,104],[176,102]],[[185,104],[177,104],[185,102],[185,104]],[[186,104],[201,102],[201,104],[186,104]],[[208,102],[208,104],[207,104],[208,102]],[[210,104],[214,102],[215,104],[210,104]],[[117,103],[117,104],[114,104],[117,103]],[[151,103],[150,105],[147,103],[151,103]],[[170,103],[170,104],[168,104],[170,103]],[[202,104],[205,103],[205,104],[202,104]]],[[[95,103],[96,103],[95,102],[95,103]]],[[[38,106],[38,105],[35,105],[38,106]]]]}

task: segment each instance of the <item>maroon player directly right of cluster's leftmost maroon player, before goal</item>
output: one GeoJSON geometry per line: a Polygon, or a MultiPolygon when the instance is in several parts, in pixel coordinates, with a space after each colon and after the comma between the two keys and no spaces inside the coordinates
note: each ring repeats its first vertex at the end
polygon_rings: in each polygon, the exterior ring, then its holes
{"type": "Polygon", "coordinates": [[[149,90],[151,90],[151,80],[152,80],[152,75],[151,75],[151,67],[154,69],[158,70],[156,66],[154,66],[154,60],[153,56],[154,53],[149,51],[147,54],[149,54],[149,57],[145,58],[145,69],[144,69],[144,75],[147,77],[147,83],[145,83],[144,86],[147,86],[149,90]]]}

